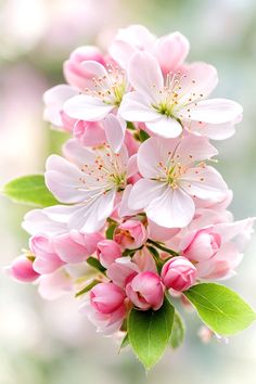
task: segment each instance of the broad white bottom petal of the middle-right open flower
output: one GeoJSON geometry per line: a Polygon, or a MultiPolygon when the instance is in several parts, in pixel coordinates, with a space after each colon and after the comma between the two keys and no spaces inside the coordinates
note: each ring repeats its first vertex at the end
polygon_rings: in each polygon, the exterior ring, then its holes
{"type": "Polygon", "coordinates": [[[165,228],[183,228],[194,216],[193,200],[180,189],[166,187],[158,199],[145,208],[148,217],[165,228]]]}

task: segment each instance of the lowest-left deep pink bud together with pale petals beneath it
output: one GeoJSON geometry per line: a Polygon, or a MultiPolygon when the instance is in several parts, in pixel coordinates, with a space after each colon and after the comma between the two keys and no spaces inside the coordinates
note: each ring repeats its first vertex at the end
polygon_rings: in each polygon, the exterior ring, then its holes
{"type": "Polygon", "coordinates": [[[86,302],[80,311],[97,325],[98,332],[112,334],[116,332],[125,317],[125,292],[113,283],[97,284],[90,291],[90,302],[86,302]]]}

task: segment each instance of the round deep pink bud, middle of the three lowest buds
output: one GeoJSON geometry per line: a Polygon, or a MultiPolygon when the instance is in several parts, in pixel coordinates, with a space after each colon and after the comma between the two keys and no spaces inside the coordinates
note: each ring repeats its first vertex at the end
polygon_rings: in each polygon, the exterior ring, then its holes
{"type": "Polygon", "coordinates": [[[136,307],[157,310],[164,300],[164,286],[158,274],[141,272],[128,282],[126,294],[136,307]]]}

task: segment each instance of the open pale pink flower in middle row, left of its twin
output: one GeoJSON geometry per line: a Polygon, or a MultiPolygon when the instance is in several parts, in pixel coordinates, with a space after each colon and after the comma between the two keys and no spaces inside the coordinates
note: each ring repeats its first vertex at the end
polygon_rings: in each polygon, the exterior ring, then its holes
{"type": "MultiPolygon", "coordinates": [[[[65,145],[73,162],[52,155],[47,161],[46,183],[60,202],[76,204],[60,207],[68,215],[68,227],[91,233],[101,229],[114,209],[115,197],[125,190],[133,169],[125,146],[114,153],[110,145],[88,150],[76,140],[65,145]]],[[[54,207],[55,208],[55,207],[54,207]]]]}

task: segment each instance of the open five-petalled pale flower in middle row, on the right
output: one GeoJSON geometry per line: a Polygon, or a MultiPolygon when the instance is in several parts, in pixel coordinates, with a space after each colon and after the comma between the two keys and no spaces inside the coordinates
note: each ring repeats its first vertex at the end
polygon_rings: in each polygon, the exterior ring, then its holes
{"type": "Polygon", "coordinates": [[[129,196],[131,209],[144,209],[150,220],[165,228],[188,226],[195,213],[194,196],[218,201],[227,191],[222,177],[202,162],[217,153],[203,137],[150,138],[138,151],[143,179],[129,196]]]}

